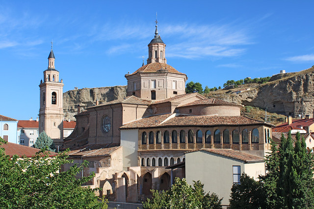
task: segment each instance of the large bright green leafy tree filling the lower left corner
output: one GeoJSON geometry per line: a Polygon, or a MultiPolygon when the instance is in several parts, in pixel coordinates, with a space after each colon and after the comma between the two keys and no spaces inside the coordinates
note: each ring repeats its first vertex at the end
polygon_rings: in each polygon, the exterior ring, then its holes
{"type": "MultiPolygon", "coordinates": [[[[0,138],[1,143],[5,141],[0,138]]],[[[76,179],[86,162],[59,172],[62,165],[72,163],[67,158],[66,153],[51,158],[45,150],[32,158],[10,158],[0,148],[0,208],[106,209],[105,201],[95,196],[97,189],[81,187],[93,175],[76,179]]]]}

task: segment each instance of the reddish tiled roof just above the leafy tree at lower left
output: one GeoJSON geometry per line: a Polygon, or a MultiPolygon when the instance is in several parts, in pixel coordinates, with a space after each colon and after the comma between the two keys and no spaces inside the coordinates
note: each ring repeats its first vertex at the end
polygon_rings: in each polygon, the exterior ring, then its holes
{"type": "MultiPolygon", "coordinates": [[[[40,151],[40,149],[36,149],[33,147],[28,147],[20,144],[15,144],[11,142],[7,142],[7,144],[2,144],[0,147],[3,147],[5,149],[5,154],[12,157],[13,155],[18,155],[20,157],[26,156],[27,158],[33,157],[36,155],[37,152],[40,151]]],[[[49,152],[49,156],[56,156],[57,153],[55,152],[49,152]]]]}

